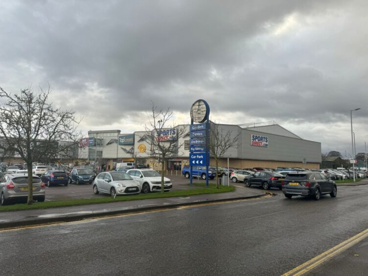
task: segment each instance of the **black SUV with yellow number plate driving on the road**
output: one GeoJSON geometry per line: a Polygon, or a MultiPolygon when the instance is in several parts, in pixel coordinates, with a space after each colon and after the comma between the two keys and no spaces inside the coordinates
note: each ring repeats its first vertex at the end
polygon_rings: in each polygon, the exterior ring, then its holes
{"type": "Polygon", "coordinates": [[[337,186],[334,181],[319,172],[289,173],[282,182],[282,192],[287,198],[301,195],[319,200],[323,194],[336,197],[337,186]]]}

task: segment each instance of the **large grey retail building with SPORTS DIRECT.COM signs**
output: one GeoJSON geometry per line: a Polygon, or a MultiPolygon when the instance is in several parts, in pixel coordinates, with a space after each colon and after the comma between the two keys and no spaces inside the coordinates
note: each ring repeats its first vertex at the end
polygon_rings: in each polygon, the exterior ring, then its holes
{"type": "MultiPolygon", "coordinates": [[[[302,167],[320,168],[321,143],[310,141],[286,130],[278,124],[246,126],[218,124],[223,133],[230,131],[238,136],[237,145],[230,148],[220,160],[220,165],[230,167],[302,167]]],[[[177,139],[177,153],[165,163],[165,169],[181,170],[189,164],[189,125],[178,125],[172,129],[185,128],[184,136],[177,139]]],[[[172,130],[171,129],[171,130],[172,130]]],[[[161,169],[158,156],[150,155],[150,143],[146,132],[124,134],[120,130],[89,131],[79,145],[79,159],[98,165],[113,167],[114,162],[137,161],[161,169]]],[[[214,159],[210,159],[214,164],[214,159]]]]}

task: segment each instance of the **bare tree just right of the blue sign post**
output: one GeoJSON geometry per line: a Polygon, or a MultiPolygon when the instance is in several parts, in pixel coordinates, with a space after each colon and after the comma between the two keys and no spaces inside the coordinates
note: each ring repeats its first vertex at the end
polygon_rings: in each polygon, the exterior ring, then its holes
{"type": "Polygon", "coordinates": [[[224,156],[230,148],[237,148],[239,134],[232,135],[232,131],[224,131],[222,127],[220,127],[216,123],[210,124],[210,135],[209,135],[209,153],[215,159],[216,164],[216,187],[219,187],[218,180],[218,163],[220,159],[224,156]]]}

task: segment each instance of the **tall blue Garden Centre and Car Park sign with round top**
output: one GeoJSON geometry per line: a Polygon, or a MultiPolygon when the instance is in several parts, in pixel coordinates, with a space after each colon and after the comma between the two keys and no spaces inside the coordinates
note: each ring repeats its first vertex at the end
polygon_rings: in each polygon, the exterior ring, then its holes
{"type": "Polygon", "coordinates": [[[205,100],[197,100],[192,104],[190,122],[190,185],[193,184],[193,166],[206,166],[206,186],[208,186],[209,106],[205,100]]]}

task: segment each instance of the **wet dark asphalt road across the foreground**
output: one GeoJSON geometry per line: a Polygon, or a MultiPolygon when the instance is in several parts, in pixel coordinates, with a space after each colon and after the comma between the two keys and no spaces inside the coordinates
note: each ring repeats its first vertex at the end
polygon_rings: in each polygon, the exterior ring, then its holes
{"type": "Polygon", "coordinates": [[[0,231],[1,274],[280,275],[368,228],[368,185],[320,201],[272,191],[268,199],[0,231]]]}

